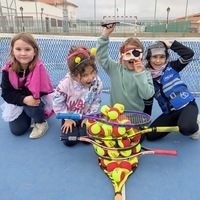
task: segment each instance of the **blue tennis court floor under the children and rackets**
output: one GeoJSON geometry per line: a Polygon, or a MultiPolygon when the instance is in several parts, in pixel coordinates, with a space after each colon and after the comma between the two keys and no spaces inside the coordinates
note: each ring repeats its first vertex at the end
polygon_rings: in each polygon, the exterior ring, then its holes
{"type": "MultiPolygon", "coordinates": [[[[108,94],[103,98],[102,104],[109,102],[108,94]]],[[[155,105],[153,118],[159,112],[155,105]]],[[[92,145],[66,147],[59,141],[60,121],[52,116],[49,126],[42,138],[29,139],[28,133],[13,136],[0,119],[0,200],[113,200],[92,145]]],[[[200,140],[172,133],[142,144],[174,149],[178,156],[141,157],[126,182],[126,200],[199,200],[200,140]]]]}

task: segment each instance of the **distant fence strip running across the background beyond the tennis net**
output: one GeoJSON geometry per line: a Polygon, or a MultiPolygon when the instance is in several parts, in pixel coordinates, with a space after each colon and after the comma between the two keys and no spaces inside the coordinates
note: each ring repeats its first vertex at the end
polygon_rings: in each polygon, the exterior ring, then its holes
{"type": "MultiPolygon", "coordinates": [[[[33,20],[29,17],[14,18],[11,22],[7,18],[0,18],[1,33],[17,33],[28,31],[39,34],[62,34],[62,35],[99,35],[102,32],[102,20],[76,20],[64,23],[62,20],[45,18],[33,20]]],[[[122,21],[120,26],[116,27],[113,36],[134,34],[137,36],[157,36],[157,35],[176,35],[189,36],[191,33],[195,36],[200,35],[200,30],[194,28],[190,20],[181,22],[169,22],[165,20],[126,20],[122,21]]]]}

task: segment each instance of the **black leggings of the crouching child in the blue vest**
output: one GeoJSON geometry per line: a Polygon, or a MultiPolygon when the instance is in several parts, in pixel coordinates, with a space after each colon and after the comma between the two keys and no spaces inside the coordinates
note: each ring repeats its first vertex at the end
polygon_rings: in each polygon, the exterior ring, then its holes
{"type": "MultiPolygon", "coordinates": [[[[189,136],[197,132],[199,129],[197,124],[197,115],[198,106],[195,101],[192,101],[180,110],[172,111],[169,114],[161,114],[152,122],[150,127],[178,126],[182,135],[189,136]]],[[[151,132],[146,133],[146,138],[150,141],[153,141],[161,139],[168,134],[169,132],[151,132]]]]}

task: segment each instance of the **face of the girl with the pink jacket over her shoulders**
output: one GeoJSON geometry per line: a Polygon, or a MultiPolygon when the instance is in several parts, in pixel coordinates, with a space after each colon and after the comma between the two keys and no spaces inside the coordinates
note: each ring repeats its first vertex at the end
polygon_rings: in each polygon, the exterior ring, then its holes
{"type": "Polygon", "coordinates": [[[27,69],[29,63],[34,59],[35,51],[30,44],[19,39],[13,45],[12,54],[20,63],[20,66],[27,69]]]}

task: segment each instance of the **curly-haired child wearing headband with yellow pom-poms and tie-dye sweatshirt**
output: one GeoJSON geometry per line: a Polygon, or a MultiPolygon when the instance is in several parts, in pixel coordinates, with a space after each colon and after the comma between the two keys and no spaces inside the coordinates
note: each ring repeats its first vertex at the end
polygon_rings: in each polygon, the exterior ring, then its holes
{"type": "MultiPolygon", "coordinates": [[[[101,105],[102,81],[97,76],[94,53],[96,49],[72,46],[68,57],[68,73],[60,81],[53,94],[55,113],[94,114],[101,105]]],[[[61,121],[61,132],[67,136],[86,136],[86,119],[61,121]]],[[[65,140],[64,144],[73,146],[76,141],[65,140]]]]}

